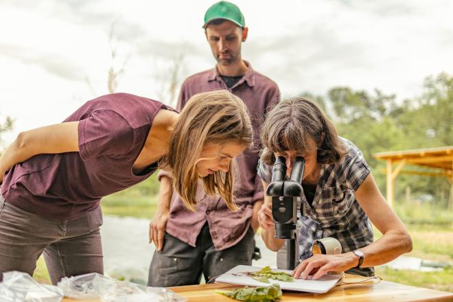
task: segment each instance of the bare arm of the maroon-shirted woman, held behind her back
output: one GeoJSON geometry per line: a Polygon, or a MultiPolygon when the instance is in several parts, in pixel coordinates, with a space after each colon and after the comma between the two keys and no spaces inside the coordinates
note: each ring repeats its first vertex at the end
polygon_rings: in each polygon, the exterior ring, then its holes
{"type": "Polygon", "coordinates": [[[78,124],[69,121],[19,133],[0,157],[0,183],[12,166],[37,154],[78,152],[78,124]]]}

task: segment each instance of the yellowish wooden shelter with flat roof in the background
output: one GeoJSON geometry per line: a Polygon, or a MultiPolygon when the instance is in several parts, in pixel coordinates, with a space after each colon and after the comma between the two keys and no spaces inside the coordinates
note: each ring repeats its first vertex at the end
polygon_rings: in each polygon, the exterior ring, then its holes
{"type": "Polygon", "coordinates": [[[453,146],[419,150],[380,152],[373,154],[375,159],[387,162],[387,201],[393,207],[393,182],[398,174],[440,176],[450,181],[450,207],[453,205],[453,146]],[[431,168],[432,172],[402,170],[404,165],[419,165],[431,168]],[[396,165],[394,167],[394,165],[396,165]]]}

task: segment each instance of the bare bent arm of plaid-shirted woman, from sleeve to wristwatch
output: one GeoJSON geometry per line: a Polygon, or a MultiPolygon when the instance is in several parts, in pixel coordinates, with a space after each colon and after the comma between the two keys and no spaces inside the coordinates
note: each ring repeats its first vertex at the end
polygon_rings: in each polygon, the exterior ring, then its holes
{"type": "Polygon", "coordinates": [[[412,240],[406,227],[382,196],[371,173],[356,191],[356,200],[382,233],[379,240],[360,248],[364,253],[363,267],[385,264],[412,251],[412,240]]]}

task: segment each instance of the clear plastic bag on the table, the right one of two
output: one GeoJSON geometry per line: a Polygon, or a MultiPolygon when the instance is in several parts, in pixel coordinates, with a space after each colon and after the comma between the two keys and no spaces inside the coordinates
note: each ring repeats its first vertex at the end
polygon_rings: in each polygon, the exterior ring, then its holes
{"type": "Polygon", "coordinates": [[[58,282],[66,297],[80,300],[101,299],[102,302],[171,301],[185,298],[166,288],[150,288],[128,281],[119,281],[92,272],[86,275],[65,277],[58,282]]]}

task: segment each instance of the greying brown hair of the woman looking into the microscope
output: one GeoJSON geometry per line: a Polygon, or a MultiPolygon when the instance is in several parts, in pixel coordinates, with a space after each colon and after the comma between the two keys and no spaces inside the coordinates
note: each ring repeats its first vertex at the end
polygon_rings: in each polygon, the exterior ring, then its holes
{"type": "Polygon", "coordinates": [[[345,147],[334,125],[316,104],[303,97],[279,102],[269,111],[262,126],[261,141],[265,147],[262,159],[266,165],[273,165],[274,152],[310,151],[307,150],[309,138],[318,148],[318,163],[338,163],[345,156],[345,147]]]}

